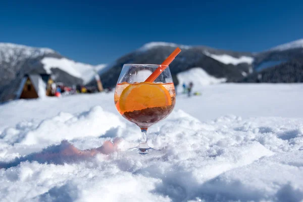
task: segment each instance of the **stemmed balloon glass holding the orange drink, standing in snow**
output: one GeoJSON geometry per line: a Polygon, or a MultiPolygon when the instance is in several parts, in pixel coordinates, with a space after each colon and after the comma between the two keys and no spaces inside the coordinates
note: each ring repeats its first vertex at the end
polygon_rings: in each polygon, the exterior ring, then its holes
{"type": "Polygon", "coordinates": [[[148,64],[123,65],[114,99],[118,112],[141,129],[141,141],[131,150],[144,155],[153,153],[156,149],[147,145],[147,129],[165,119],[176,103],[176,92],[169,67],[148,64]],[[145,82],[160,66],[165,68],[160,76],[154,82],[145,82]]]}

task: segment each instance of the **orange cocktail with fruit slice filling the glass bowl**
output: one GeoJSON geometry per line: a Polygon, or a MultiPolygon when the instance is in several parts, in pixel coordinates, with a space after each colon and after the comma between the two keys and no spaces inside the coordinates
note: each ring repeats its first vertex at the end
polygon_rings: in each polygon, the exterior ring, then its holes
{"type": "Polygon", "coordinates": [[[174,109],[176,93],[173,83],[117,84],[115,105],[119,113],[141,129],[166,118],[174,109]]]}

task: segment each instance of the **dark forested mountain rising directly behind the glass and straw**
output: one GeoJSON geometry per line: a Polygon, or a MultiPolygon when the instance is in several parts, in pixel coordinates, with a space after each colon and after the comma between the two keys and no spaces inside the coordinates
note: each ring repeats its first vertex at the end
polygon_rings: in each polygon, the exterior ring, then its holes
{"type": "MultiPolygon", "coordinates": [[[[254,57],[251,53],[240,53],[215,49],[207,46],[189,46],[168,42],[150,42],[135,51],[122,56],[100,74],[105,87],[116,85],[123,64],[161,64],[176,47],[182,52],[171,63],[170,70],[174,83],[178,85],[177,74],[199,67],[215,78],[235,81],[252,72],[254,57]]],[[[94,81],[93,81],[94,82],[94,81]]]]}

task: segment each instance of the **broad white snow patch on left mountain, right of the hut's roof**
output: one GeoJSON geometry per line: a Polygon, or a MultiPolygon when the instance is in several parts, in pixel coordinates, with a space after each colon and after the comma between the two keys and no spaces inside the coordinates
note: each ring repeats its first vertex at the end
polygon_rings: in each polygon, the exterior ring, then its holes
{"type": "Polygon", "coordinates": [[[52,72],[52,68],[59,68],[68,74],[82,78],[84,84],[90,82],[95,75],[94,69],[97,71],[103,69],[105,65],[92,66],[84,63],[78,63],[66,58],[43,58],[41,63],[44,65],[43,68],[47,73],[52,72]]]}

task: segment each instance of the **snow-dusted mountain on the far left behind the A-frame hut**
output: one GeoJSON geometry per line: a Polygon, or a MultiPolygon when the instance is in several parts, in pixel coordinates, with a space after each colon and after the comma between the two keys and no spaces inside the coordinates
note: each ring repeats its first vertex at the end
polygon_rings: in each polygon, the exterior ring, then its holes
{"type": "Polygon", "coordinates": [[[0,101],[14,98],[25,74],[48,73],[67,85],[87,84],[106,67],[75,62],[49,48],[0,43],[0,101]]]}

